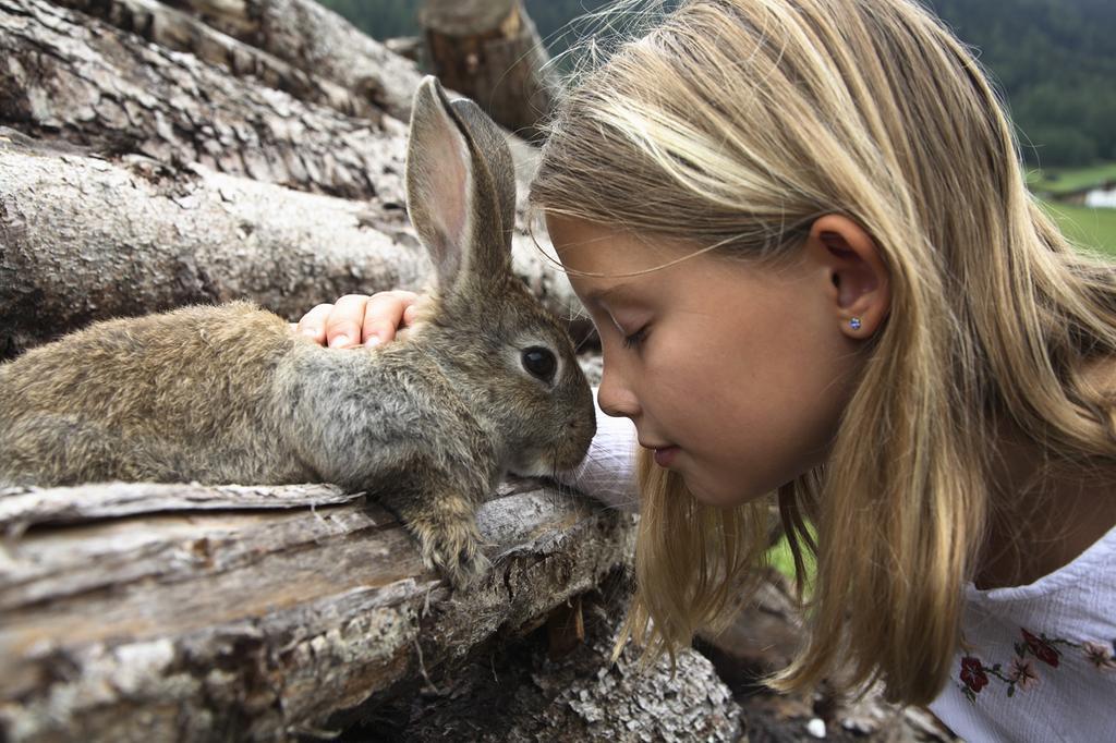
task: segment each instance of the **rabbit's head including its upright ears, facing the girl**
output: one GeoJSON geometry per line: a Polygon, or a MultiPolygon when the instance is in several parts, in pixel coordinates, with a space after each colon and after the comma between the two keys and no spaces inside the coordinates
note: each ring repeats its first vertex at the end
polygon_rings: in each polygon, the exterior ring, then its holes
{"type": "Polygon", "coordinates": [[[433,77],[415,94],[407,209],[436,292],[419,331],[525,475],[576,465],[596,431],[593,396],[562,324],[511,270],[516,175],[500,129],[433,77]]]}

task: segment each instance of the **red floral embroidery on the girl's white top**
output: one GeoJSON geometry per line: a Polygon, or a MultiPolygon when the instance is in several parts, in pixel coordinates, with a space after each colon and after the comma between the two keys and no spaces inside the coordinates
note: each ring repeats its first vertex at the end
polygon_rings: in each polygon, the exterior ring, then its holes
{"type": "Polygon", "coordinates": [[[1060,648],[1079,650],[1085,659],[1098,670],[1116,670],[1116,657],[1114,657],[1116,655],[1114,653],[1116,650],[1116,640],[1108,644],[1090,640],[1075,643],[1061,637],[1047,637],[1045,633],[1035,635],[1028,631],[1026,627],[1020,627],[1020,633],[1023,639],[1021,643],[1014,643],[1016,657],[1011,659],[1007,670],[1004,670],[1001,663],[985,666],[979,657],[972,654],[961,658],[961,673],[959,677],[963,685],[959,684],[958,687],[971,703],[975,704],[977,695],[980,694],[982,688],[988,686],[990,678],[995,678],[1007,684],[1007,694],[1009,697],[1014,696],[1017,689],[1026,692],[1035,688],[1039,685],[1041,676],[1039,676],[1035,660],[1028,656],[1042,662],[1051,668],[1057,668],[1061,664],[1062,658],[1062,650],[1060,648]]]}

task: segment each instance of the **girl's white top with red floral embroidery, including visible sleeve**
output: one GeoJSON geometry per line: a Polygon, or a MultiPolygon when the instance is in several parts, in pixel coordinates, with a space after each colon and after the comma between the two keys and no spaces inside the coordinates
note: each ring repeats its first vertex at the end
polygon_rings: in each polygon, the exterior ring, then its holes
{"type": "MultiPolygon", "coordinates": [[[[594,389],[596,395],[596,389],[594,389]]],[[[638,509],[635,427],[597,413],[585,462],[562,480],[638,509]]],[[[968,741],[1116,742],[1116,528],[1029,586],[965,589],[964,648],[930,708],[968,741]]]]}

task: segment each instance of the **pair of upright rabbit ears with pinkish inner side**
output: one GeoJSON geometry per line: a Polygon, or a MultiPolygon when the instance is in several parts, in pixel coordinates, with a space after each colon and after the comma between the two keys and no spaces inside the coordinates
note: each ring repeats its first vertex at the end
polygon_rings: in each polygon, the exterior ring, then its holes
{"type": "Polygon", "coordinates": [[[477,104],[451,104],[433,76],[411,109],[406,184],[407,211],[442,291],[510,272],[516,176],[508,144],[477,104]]]}

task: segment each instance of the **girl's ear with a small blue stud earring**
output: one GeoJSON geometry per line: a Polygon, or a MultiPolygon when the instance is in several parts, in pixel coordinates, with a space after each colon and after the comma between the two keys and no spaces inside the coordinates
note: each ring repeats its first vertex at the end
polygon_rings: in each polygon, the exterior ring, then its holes
{"type": "Polygon", "coordinates": [[[891,272],[876,241],[841,214],[815,220],[807,251],[827,272],[834,317],[850,338],[870,338],[892,305],[891,272]]]}

